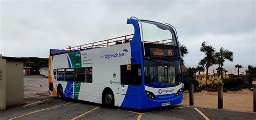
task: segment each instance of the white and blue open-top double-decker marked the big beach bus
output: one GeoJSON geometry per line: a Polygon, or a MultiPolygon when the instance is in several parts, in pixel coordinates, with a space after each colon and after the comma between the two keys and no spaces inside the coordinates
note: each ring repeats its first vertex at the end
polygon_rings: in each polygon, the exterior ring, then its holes
{"type": "Polygon", "coordinates": [[[176,29],[127,19],[134,34],[50,49],[49,92],[132,109],[181,103],[183,77],[176,29]]]}

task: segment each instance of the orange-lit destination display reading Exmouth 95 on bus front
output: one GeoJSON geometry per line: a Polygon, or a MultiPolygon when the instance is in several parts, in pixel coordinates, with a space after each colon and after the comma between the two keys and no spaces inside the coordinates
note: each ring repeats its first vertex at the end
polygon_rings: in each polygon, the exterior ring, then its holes
{"type": "Polygon", "coordinates": [[[150,48],[151,56],[174,56],[172,49],[162,49],[162,48],[150,48]]]}

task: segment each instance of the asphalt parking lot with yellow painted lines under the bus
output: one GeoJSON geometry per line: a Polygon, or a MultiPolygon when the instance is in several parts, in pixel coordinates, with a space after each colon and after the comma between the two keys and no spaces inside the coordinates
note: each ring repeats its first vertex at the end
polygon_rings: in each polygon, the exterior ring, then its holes
{"type": "Polygon", "coordinates": [[[0,110],[0,119],[256,119],[253,112],[169,106],[149,110],[105,108],[85,101],[57,99],[48,94],[48,78],[24,77],[24,104],[0,110]],[[39,87],[42,82],[43,87],[39,87]]]}

